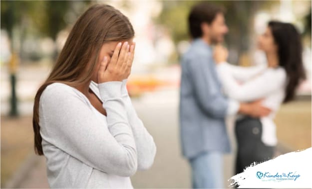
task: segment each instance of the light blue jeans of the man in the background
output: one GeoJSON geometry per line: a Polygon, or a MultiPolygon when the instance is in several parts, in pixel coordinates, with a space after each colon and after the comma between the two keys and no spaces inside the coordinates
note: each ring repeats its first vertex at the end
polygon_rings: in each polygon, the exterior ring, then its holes
{"type": "Polygon", "coordinates": [[[192,187],[223,188],[223,153],[202,152],[189,160],[192,167],[192,187]]]}

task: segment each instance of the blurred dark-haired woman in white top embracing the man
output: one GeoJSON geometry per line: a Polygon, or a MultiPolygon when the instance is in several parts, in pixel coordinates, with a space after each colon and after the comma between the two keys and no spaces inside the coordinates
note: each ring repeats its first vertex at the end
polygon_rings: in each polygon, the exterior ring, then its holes
{"type": "Polygon", "coordinates": [[[254,118],[237,116],[235,135],[238,143],[236,174],[253,162],[273,158],[277,145],[274,117],[281,103],[291,101],[301,80],[305,79],[301,36],[291,23],[270,21],[258,47],[267,57],[267,65],[239,67],[226,62],[228,52],[215,48],[217,72],[224,92],[243,102],[263,99],[272,111],[268,116],[254,118]]]}

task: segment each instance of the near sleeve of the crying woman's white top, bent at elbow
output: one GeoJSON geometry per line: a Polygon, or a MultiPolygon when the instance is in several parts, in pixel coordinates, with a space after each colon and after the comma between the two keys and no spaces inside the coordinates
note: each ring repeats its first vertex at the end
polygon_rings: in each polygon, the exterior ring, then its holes
{"type": "Polygon", "coordinates": [[[86,100],[65,84],[51,84],[40,104],[44,139],[90,167],[124,177],[137,170],[137,150],[126,107],[122,82],[98,84],[107,112],[107,125],[98,121],[86,100]],[[104,127],[108,129],[104,129],[104,127]]]}

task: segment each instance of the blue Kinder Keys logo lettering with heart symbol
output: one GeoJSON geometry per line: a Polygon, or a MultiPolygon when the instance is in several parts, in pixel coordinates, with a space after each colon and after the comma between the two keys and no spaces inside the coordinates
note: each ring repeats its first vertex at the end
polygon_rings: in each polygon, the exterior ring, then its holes
{"type": "Polygon", "coordinates": [[[258,171],[256,177],[262,181],[296,181],[301,175],[297,172],[288,172],[288,173],[270,173],[270,172],[261,172],[258,171]]]}

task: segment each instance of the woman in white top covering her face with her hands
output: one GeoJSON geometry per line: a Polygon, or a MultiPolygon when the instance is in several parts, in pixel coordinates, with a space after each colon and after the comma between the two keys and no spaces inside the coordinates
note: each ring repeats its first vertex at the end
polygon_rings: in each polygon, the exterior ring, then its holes
{"type": "Polygon", "coordinates": [[[51,188],[133,188],[130,176],[153,164],[156,145],[126,89],[133,37],[119,10],[92,5],[38,89],[34,148],[51,188]]]}

